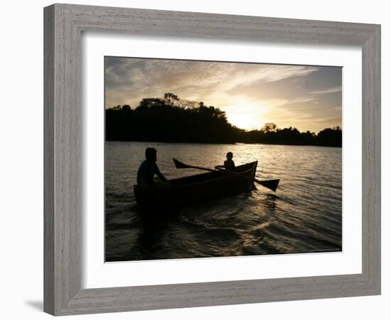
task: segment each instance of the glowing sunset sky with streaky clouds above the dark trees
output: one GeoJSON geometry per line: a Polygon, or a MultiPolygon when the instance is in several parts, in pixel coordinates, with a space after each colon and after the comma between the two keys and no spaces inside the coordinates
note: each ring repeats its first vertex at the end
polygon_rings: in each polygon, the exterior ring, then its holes
{"type": "Polygon", "coordinates": [[[171,92],[219,107],[242,129],[342,127],[341,86],[340,67],[105,57],[105,107],[171,92]]]}

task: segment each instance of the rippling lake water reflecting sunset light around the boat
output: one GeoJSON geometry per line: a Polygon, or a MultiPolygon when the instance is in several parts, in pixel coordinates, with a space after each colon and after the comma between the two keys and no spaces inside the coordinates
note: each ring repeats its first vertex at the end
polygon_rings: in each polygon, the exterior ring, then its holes
{"type": "Polygon", "coordinates": [[[106,261],[342,250],[342,149],[268,144],[105,144],[106,261]],[[213,168],[232,151],[236,165],[258,161],[256,177],[279,178],[277,192],[257,190],[181,210],[143,228],[133,185],[144,150],[158,151],[166,178],[202,171],[175,169],[173,158],[213,168]]]}

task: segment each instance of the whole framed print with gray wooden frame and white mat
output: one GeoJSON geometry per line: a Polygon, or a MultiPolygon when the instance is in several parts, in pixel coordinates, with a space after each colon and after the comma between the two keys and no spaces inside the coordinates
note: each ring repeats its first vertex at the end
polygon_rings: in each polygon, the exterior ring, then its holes
{"type": "Polygon", "coordinates": [[[55,315],[380,294],[380,26],[45,8],[44,278],[55,315]]]}

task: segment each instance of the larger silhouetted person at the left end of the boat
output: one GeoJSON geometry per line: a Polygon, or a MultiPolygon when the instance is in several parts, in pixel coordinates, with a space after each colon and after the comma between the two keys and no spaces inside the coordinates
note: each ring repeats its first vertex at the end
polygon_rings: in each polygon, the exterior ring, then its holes
{"type": "Polygon", "coordinates": [[[159,177],[161,181],[167,182],[166,177],[161,174],[159,167],[156,164],[157,151],[155,148],[146,148],[145,161],[140,165],[137,171],[137,185],[140,188],[158,188],[154,181],[154,176],[159,177]]]}

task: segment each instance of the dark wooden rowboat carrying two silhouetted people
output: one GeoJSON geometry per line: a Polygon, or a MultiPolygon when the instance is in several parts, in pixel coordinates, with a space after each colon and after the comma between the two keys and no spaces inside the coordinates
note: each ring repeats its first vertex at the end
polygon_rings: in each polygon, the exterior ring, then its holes
{"type": "Polygon", "coordinates": [[[134,196],[141,210],[181,208],[191,203],[236,196],[254,190],[255,186],[250,178],[255,178],[256,170],[257,161],[237,166],[235,172],[240,175],[223,170],[172,179],[171,188],[151,190],[134,186],[134,196]]]}

